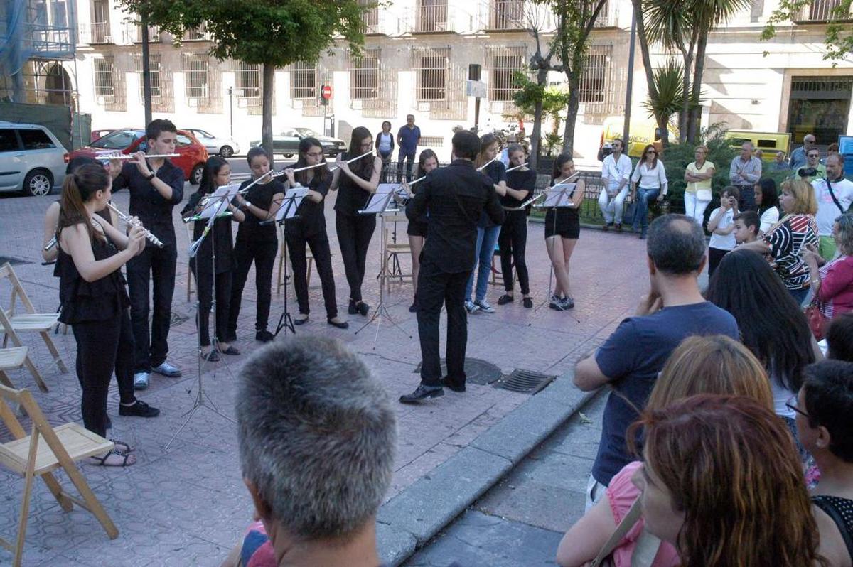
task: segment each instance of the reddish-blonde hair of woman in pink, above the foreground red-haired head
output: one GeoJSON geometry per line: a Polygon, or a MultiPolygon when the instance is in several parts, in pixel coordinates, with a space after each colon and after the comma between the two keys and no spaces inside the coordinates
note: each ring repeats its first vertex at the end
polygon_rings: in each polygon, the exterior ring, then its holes
{"type": "Polygon", "coordinates": [[[665,408],[696,394],[746,396],[773,408],[767,371],[743,344],[724,335],[688,337],[672,351],[646,408],[665,408]]]}

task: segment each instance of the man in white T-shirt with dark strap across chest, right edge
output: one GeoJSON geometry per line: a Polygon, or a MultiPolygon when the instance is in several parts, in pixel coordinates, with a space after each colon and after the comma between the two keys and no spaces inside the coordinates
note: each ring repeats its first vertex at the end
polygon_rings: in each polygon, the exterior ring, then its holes
{"type": "Polygon", "coordinates": [[[844,179],[844,156],[833,153],[827,157],[827,178],[811,183],[817,200],[817,234],[820,236],[820,252],[825,260],[835,257],[833,224],[839,215],[850,209],[853,203],[853,182],[844,179]],[[834,197],[834,198],[833,198],[834,197]]]}

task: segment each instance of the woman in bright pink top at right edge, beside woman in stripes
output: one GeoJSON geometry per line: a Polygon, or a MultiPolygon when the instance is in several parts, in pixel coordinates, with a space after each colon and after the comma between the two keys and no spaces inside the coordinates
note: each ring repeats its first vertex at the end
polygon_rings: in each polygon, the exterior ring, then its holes
{"type": "Polygon", "coordinates": [[[827,321],[853,311],[853,213],[835,219],[833,238],[839,255],[820,268],[823,258],[814,246],[803,253],[812,292],[827,321]]]}

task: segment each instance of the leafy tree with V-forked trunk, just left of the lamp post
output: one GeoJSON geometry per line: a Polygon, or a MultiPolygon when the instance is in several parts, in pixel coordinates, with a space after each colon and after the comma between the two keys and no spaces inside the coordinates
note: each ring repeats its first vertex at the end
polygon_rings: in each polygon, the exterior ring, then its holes
{"type": "Polygon", "coordinates": [[[551,41],[560,56],[569,87],[563,151],[571,155],[575,144],[577,110],[580,107],[583,59],[589,48],[589,34],[607,0],[543,0],[543,3],[554,11],[556,26],[551,41]]]}

